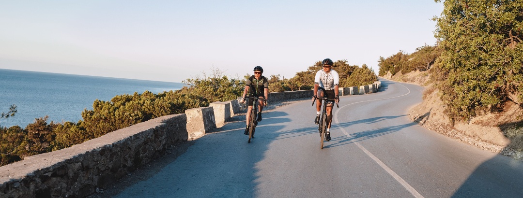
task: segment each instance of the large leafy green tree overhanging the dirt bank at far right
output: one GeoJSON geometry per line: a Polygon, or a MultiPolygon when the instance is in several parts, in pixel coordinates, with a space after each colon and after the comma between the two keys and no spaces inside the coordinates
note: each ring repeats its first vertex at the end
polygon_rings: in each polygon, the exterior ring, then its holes
{"type": "Polygon", "coordinates": [[[434,20],[447,113],[467,120],[508,101],[522,105],[523,1],[448,0],[444,6],[434,20]]]}

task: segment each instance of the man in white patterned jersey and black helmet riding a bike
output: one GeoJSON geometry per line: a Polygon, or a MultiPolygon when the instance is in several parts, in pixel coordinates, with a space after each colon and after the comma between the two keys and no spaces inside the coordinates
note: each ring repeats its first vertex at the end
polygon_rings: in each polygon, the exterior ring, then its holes
{"type": "MultiPolygon", "coordinates": [[[[322,61],[323,69],[316,72],[316,77],[314,78],[314,96],[312,100],[319,97],[327,97],[329,100],[335,100],[336,104],[339,102],[338,96],[338,86],[339,86],[339,76],[338,72],[332,69],[332,60],[330,58],[325,58],[322,61]],[[325,90],[325,91],[323,91],[325,90]]],[[[326,140],[331,141],[331,123],[332,123],[332,107],[334,103],[332,101],[327,102],[326,112],[327,112],[327,135],[326,140]]],[[[320,122],[320,110],[322,107],[322,101],[316,101],[316,119],[314,123],[316,125],[320,122]]]]}

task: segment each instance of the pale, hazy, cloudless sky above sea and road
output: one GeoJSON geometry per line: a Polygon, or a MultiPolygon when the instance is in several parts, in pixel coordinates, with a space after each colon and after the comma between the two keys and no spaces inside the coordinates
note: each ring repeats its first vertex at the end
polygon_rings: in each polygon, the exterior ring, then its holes
{"type": "Polygon", "coordinates": [[[380,56],[434,45],[442,3],[2,1],[0,68],[181,82],[219,68],[291,78],[316,61],[378,72],[380,56]]]}

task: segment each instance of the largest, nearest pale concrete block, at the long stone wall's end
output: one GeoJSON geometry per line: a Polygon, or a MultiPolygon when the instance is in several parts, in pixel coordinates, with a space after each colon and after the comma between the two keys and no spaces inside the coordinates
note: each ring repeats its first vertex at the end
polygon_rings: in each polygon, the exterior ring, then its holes
{"type": "Polygon", "coordinates": [[[216,128],[214,109],[212,107],[191,108],[185,110],[187,115],[187,133],[189,140],[202,137],[216,128]]]}

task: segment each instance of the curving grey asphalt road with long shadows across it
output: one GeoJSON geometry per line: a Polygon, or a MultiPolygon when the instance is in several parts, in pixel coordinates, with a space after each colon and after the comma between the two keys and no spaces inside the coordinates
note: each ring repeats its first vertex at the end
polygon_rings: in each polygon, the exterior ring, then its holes
{"type": "Polygon", "coordinates": [[[407,110],[423,88],[382,79],[380,92],[342,96],[320,149],[311,101],[198,140],[116,197],[523,197],[523,163],[419,127],[407,110]]]}

